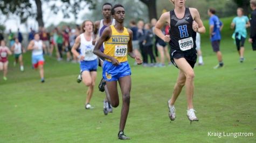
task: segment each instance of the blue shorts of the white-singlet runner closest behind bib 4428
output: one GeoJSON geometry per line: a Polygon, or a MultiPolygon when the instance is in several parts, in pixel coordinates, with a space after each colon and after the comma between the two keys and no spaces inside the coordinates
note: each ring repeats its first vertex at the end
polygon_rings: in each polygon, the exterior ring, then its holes
{"type": "Polygon", "coordinates": [[[81,61],[80,69],[81,71],[97,71],[98,67],[98,59],[94,59],[93,61],[81,61]]]}

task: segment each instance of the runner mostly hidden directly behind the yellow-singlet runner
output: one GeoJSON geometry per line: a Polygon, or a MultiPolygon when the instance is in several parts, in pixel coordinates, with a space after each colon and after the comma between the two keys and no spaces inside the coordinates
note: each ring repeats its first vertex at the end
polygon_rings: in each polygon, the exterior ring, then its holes
{"type": "MultiPolygon", "coordinates": [[[[115,19],[112,19],[111,16],[111,9],[112,9],[112,4],[110,3],[105,3],[102,5],[102,15],[103,15],[103,19],[99,20],[99,21],[95,21],[94,23],[94,35],[97,35],[97,38],[99,38],[103,32],[103,30],[107,27],[109,27],[110,25],[114,25],[115,24],[115,19]]],[[[96,37],[94,37],[94,40],[96,41],[96,37]]],[[[104,44],[101,45],[100,47],[100,51],[104,51],[104,44]]],[[[103,66],[103,61],[105,61],[104,58],[99,57],[99,66],[103,66]]],[[[103,112],[105,115],[108,114],[108,112],[112,112],[112,106],[110,105],[109,101],[108,101],[108,97],[109,97],[109,92],[106,86],[106,81],[102,78],[99,84],[99,90],[101,92],[106,93],[106,97],[103,100],[103,112]]]]}

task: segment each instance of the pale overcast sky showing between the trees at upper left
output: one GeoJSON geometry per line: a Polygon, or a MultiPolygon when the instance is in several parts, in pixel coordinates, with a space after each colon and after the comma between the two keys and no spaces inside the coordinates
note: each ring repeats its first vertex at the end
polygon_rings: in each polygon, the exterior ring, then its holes
{"type": "MultiPolygon", "coordinates": [[[[33,6],[33,9],[36,10],[36,3],[32,0],[30,0],[33,6]]],[[[50,2],[51,3],[51,2],[50,2]]],[[[59,11],[57,14],[54,14],[51,9],[49,9],[49,4],[50,3],[44,3],[42,5],[43,9],[43,19],[44,19],[44,24],[45,26],[49,26],[51,24],[58,25],[59,22],[61,21],[66,21],[66,22],[71,22],[74,21],[74,17],[71,14],[71,18],[69,19],[64,19],[63,18],[63,13],[59,11]]],[[[60,6],[61,2],[57,1],[57,6],[60,6]]],[[[86,13],[89,12],[89,10],[86,8],[85,10],[82,10],[78,14],[78,21],[76,21],[77,24],[80,24],[82,22],[81,17],[86,13]]],[[[5,32],[9,32],[9,29],[12,29],[13,32],[17,32],[17,29],[19,28],[21,32],[29,32],[30,27],[33,29],[38,29],[38,24],[36,19],[29,18],[26,22],[26,24],[20,24],[19,17],[13,15],[10,16],[8,20],[1,21],[0,24],[5,25],[5,32]],[[26,26],[27,25],[27,26],[26,26]]]]}

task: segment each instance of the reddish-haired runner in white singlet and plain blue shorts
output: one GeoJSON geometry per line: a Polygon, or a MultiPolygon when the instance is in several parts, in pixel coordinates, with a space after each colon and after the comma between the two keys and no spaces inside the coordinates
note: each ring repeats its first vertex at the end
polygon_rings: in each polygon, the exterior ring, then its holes
{"type": "Polygon", "coordinates": [[[83,33],[75,39],[71,51],[80,60],[82,82],[88,87],[85,109],[92,109],[89,102],[93,95],[98,67],[98,57],[93,54],[93,22],[85,20],[82,23],[82,31],[83,33]],[[80,48],[80,53],[77,52],[78,48],[80,48]]]}

